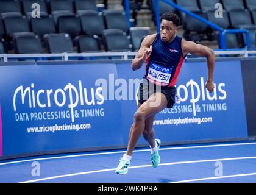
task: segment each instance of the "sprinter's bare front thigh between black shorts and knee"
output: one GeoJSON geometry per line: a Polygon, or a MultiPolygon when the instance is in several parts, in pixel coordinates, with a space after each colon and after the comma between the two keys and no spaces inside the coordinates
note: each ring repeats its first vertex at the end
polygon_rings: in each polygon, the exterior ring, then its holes
{"type": "MultiPolygon", "coordinates": [[[[156,113],[163,110],[167,106],[167,99],[163,93],[154,93],[149,99],[144,102],[137,110],[139,113],[143,113],[146,119],[150,116],[154,116],[156,113]]],[[[151,119],[152,121],[152,119],[151,119]]]]}

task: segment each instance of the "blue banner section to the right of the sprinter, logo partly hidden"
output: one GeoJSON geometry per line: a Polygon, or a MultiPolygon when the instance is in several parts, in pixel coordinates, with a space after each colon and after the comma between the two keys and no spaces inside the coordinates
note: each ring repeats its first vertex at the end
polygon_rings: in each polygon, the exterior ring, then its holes
{"type": "Polygon", "coordinates": [[[240,61],[215,63],[213,93],[204,87],[207,76],[205,62],[183,63],[176,85],[180,104],[156,115],[156,136],[163,141],[248,136],[240,61]]]}

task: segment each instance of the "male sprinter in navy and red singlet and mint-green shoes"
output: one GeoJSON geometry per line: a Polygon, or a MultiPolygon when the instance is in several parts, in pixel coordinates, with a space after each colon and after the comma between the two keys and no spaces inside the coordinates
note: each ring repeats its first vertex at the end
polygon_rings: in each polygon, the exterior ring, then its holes
{"type": "Polygon", "coordinates": [[[161,16],[160,34],[148,35],[141,43],[141,47],[132,60],[133,71],[140,69],[146,60],[146,74],[140,83],[138,91],[138,110],[135,112],[130,129],[129,143],[126,154],[121,158],[117,174],[127,174],[132,158],[132,151],[141,133],[151,148],[153,167],[160,163],[160,140],[154,138],[153,121],[156,113],[163,108],[172,108],[176,96],[176,82],[183,60],[188,53],[207,57],[208,79],[205,87],[212,92],[213,69],[215,54],[212,49],[185,41],[176,36],[180,25],[179,17],[174,13],[161,16]],[[158,90],[157,90],[158,88],[158,90]],[[154,104],[157,102],[157,104],[154,104]]]}

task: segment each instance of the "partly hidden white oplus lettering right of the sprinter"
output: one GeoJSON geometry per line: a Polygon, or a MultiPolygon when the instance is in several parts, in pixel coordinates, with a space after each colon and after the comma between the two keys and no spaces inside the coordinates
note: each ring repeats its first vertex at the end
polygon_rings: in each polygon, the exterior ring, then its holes
{"type": "Polygon", "coordinates": [[[210,94],[205,88],[204,78],[201,77],[200,83],[191,79],[185,85],[179,85],[179,87],[177,87],[177,94],[180,96],[180,102],[185,102],[188,101],[188,94],[190,91],[191,98],[189,101],[193,107],[193,115],[196,116],[196,103],[200,100],[205,101],[207,99],[208,101],[223,101],[227,98],[227,92],[224,90],[224,87],[225,83],[219,83],[218,85],[215,83],[213,93],[210,94]]]}

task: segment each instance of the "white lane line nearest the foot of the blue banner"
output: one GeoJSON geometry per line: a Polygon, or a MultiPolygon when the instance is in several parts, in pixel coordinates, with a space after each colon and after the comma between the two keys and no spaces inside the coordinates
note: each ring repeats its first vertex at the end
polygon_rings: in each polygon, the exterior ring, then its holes
{"type": "MultiPolygon", "coordinates": [[[[177,150],[177,149],[197,149],[197,148],[207,148],[207,147],[226,147],[226,146],[245,146],[245,145],[255,145],[256,142],[253,143],[236,143],[236,144],[213,144],[213,145],[206,145],[206,146],[184,146],[184,147],[166,147],[160,149],[160,151],[167,151],[167,150],[177,150]]],[[[146,152],[150,151],[150,149],[143,149],[143,150],[135,150],[133,152],[146,152]]],[[[98,152],[92,154],[78,154],[78,155],[66,155],[66,156],[59,156],[59,157],[48,157],[48,158],[34,158],[28,160],[19,160],[19,161],[10,161],[5,163],[0,163],[0,165],[10,165],[15,163],[24,163],[28,161],[37,161],[37,160],[52,160],[52,159],[59,159],[59,158],[73,158],[73,157],[85,157],[91,155],[105,155],[105,154],[119,154],[124,153],[126,151],[116,151],[116,152],[98,152]]]]}

